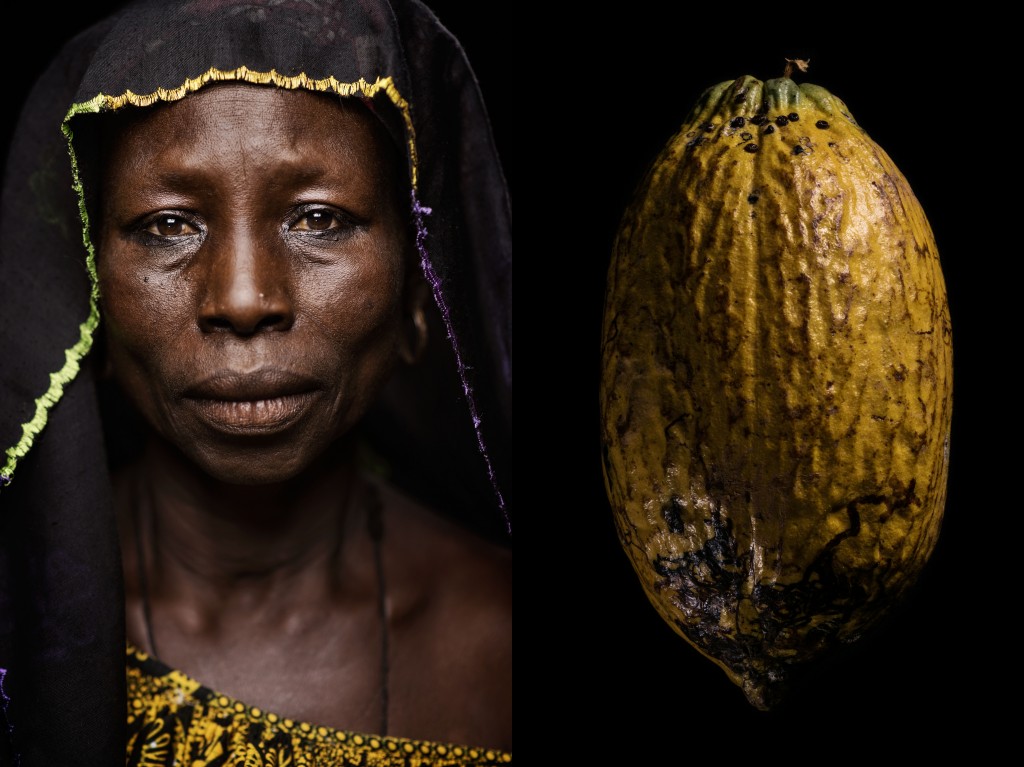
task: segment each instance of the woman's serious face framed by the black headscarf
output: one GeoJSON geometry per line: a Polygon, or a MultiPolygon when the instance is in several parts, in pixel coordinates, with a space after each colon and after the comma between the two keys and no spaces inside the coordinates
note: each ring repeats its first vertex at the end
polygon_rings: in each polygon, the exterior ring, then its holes
{"type": "Polygon", "coordinates": [[[381,388],[406,293],[396,155],[362,109],[242,84],[117,132],[97,259],[110,363],[208,474],[290,478],[381,388]]]}

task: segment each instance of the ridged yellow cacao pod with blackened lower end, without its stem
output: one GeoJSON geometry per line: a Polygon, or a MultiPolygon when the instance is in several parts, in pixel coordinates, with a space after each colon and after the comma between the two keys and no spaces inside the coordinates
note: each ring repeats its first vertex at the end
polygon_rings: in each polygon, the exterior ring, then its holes
{"type": "Polygon", "coordinates": [[[608,273],[605,486],[662,617],[770,709],[935,547],[949,310],[906,179],[825,89],[710,88],[608,273]]]}

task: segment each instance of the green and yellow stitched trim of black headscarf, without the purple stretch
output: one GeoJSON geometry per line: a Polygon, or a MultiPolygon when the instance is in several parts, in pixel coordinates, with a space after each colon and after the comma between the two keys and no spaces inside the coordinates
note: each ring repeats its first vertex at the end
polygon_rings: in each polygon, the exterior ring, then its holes
{"type": "Polygon", "coordinates": [[[359,79],[354,83],[342,83],[333,77],[315,80],[305,73],[288,77],[279,74],[276,71],[254,72],[247,67],[240,67],[236,70],[210,69],[197,78],[185,80],[184,84],[178,88],[165,89],[158,88],[154,93],[137,94],[126,91],[120,96],[110,96],[100,93],[95,98],[88,101],[81,101],[72,104],[65,116],[60,129],[68,140],[68,154],[71,156],[71,168],[73,178],[73,188],[78,195],[78,209],[82,218],[82,242],[86,249],[86,269],[89,272],[89,316],[79,326],[79,340],[70,349],[65,351],[65,365],[56,373],[50,374],[50,386],[46,392],[36,399],[36,412],[31,421],[22,425],[22,438],[17,444],[9,448],[6,452],[7,462],[0,469],[0,486],[9,484],[14,475],[14,469],[19,459],[25,458],[32,450],[36,436],[46,426],[50,408],[59,401],[63,395],[65,386],[74,380],[81,368],[82,358],[92,348],[93,335],[99,326],[99,280],[96,276],[96,254],[89,238],[89,214],[85,208],[85,190],[82,188],[82,179],[78,170],[78,157],[75,154],[73,144],[74,134],[71,130],[71,120],[78,115],[96,114],[104,111],[118,110],[126,104],[135,106],[151,106],[158,101],[176,101],[184,98],[189,93],[202,88],[210,82],[242,81],[255,85],[276,85],[281,88],[297,89],[305,88],[318,92],[333,91],[341,96],[362,96],[373,98],[378,93],[384,93],[391,103],[401,114],[406,124],[406,134],[408,136],[410,176],[413,189],[417,187],[417,173],[419,161],[416,153],[416,134],[413,129],[413,117],[409,108],[409,102],[401,96],[395,87],[394,80],[390,77],[377,78],[373,83],[359,79]]]}

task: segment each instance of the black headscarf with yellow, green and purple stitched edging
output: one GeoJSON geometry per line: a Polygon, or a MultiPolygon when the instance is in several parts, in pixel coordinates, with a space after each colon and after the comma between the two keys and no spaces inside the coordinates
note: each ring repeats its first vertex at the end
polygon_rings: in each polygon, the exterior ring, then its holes
{"type": "Polygon", "coordinates": [[[432,343],[368,415],[368,439],[408,492],[478,532],[511,535],[511,213],[458,42],[417,0],[131,3],[47,69],[7,159],[0,763],[125,758],[124,590],[83,225],[90,121],[219,80],[360,98],[406,154],[432,343]]]}

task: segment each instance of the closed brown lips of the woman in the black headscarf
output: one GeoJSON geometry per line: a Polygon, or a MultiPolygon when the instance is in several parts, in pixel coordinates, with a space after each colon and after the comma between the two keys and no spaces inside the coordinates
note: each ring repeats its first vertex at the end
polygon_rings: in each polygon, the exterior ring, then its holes
{"type": "Polygon", "coordinates": [[[298,421],[318,388],[314,380],[288,371],[225,371],[186,389],[184,399],[218,430],[269,434],[298,421]]]}

